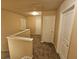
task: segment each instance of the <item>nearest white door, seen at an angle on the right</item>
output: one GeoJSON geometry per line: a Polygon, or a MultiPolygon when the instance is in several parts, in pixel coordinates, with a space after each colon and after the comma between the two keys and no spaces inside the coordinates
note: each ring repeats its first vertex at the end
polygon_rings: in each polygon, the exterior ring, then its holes
{"type": "Polygon", "coordinates": [[[68,10],[62,14],[62,24],[60,33],[60,57],[61,59],[67,59],[70,36],[73,25],[73,14],[74,11],[68,10]]]}

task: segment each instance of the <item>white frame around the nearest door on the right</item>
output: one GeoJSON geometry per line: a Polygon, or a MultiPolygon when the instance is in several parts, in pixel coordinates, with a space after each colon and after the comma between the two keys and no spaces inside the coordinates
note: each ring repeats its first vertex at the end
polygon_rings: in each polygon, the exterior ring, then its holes
{"type": "MultiPolygon", "coordinates": [[[[56,52],[60,55],[60,34],[61,34],[61,25],[62,25],[62,18],[63,18],[63,13],[68,11],[69,9],[71,9],[73,6],[73,11],[74,11],[74,14],[75,15],[75,4],[76,2],[73,2],[71,5],[69,5],[67,8],[65,8],[63,11],[60,12],[60,21],[59,21],[59,31],[58,31],[58,40],[57,40],[57,48],[56,48],[56,52]]],[[[74,19],[73,19],[74,21],[74,19]]],[[[74,22],[73,22],[74,23],[74,22]]],[[[72,24],[73,26],[73,24],[72,24]]],[[[72,31],[71,31],[72,32],[72,31]]]]}

